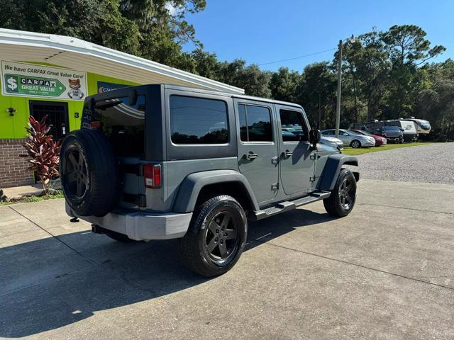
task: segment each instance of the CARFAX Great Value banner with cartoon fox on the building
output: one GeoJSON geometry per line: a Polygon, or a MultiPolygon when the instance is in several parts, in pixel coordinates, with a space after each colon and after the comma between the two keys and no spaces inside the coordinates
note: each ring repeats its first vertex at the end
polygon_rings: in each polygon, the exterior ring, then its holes
{"type": "Polygon", "coordinates": [[[5,96],[83,101],[87,73],[23,62],[1,62],[1,92],[5,96]]]}

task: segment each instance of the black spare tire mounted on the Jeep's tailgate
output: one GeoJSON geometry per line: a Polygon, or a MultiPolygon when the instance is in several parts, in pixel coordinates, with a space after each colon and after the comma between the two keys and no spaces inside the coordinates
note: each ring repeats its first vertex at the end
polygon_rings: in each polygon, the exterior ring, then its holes
{"type": "Polygon", "coordinates": [[[60,174],[67,204],[79,216],[104,216],[118,203],[118,162],[109,140],[96,130],[71,132],[62,143],[60,174]]]}

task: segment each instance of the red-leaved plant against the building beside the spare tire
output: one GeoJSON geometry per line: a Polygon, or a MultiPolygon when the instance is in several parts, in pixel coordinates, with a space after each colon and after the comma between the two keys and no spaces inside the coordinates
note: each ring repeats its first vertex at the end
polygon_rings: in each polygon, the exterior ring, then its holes
{"type": "Polygon", "coordinates": [[[30,157],[30,170],[36,171],[43,184],[44,193],[49,193],[51,180],[59,176],[58,165],[60,162],[61,141],[55,142],[49,135],[50,125],[45,123],[47,115],[43,119],[36,120],[32,116],[28,118],[28,137],[23,147],[27,154],[21,157],[30,157]]]}

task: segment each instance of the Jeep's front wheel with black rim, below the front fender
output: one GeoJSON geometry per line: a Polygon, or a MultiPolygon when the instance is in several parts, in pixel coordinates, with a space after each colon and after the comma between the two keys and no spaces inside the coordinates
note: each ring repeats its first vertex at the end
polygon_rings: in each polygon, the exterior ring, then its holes
{"type": "Polygon", "coordinates": [[[333,217],[350,214],[356,202],[356,180],[353,172],[342,169],[331,196],[323,200],[326,212],[333,217]]]}

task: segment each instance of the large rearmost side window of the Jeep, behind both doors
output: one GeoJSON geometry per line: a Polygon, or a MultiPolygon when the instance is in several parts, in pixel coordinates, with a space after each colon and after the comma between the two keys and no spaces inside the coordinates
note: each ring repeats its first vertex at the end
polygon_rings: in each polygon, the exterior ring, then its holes
{"type": "Polygon", "coordinates": [[[170,96],[170,138],[179,145],[227,143],[226,103],[214,99],[170,96]]]}

